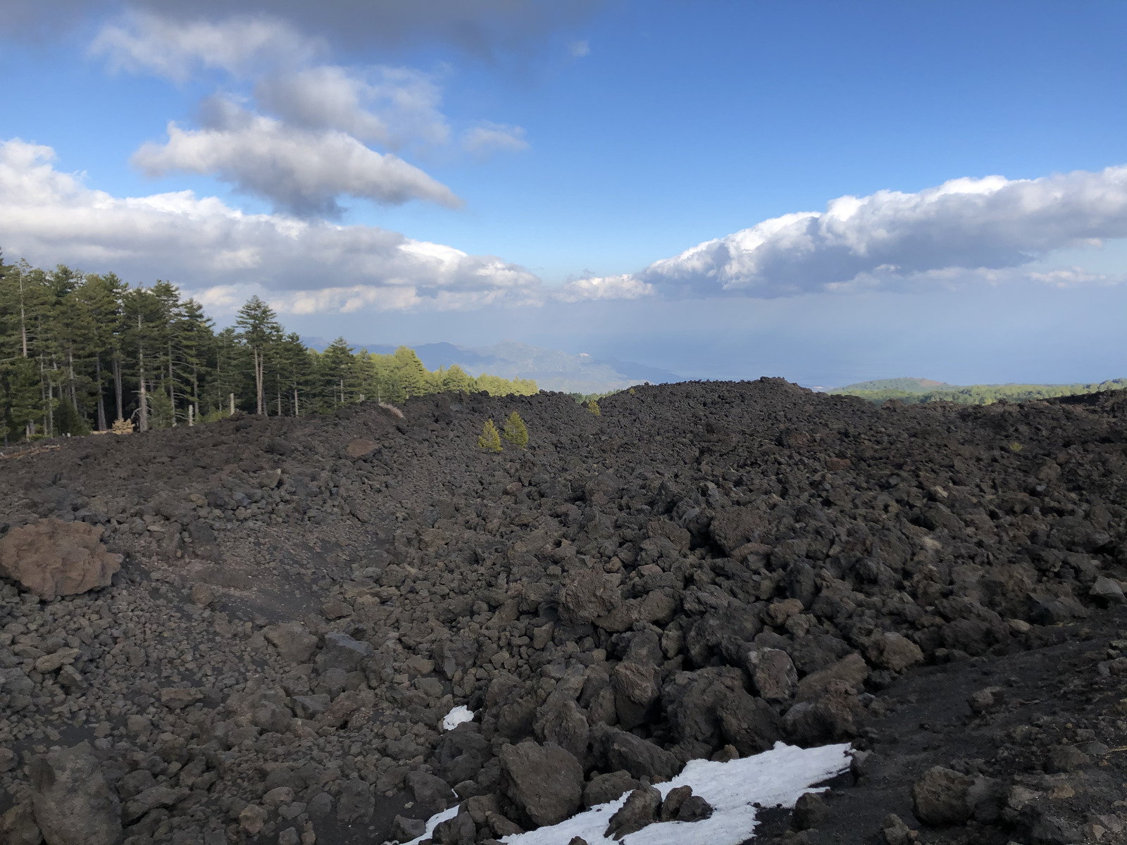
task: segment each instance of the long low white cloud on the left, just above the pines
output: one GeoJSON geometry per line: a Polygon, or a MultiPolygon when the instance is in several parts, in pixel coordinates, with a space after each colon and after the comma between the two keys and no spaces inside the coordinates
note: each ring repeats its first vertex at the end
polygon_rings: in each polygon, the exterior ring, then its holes
{"type": "Polygon", "coordinates": [[[267,292],[287,312],[542,302],[535,275],[397,232],[243,214],[192,192],[119,198],[54,167],[50,146],[0,143],[5,252],[126,278],[171,278],[205,304],[267,292]]]}

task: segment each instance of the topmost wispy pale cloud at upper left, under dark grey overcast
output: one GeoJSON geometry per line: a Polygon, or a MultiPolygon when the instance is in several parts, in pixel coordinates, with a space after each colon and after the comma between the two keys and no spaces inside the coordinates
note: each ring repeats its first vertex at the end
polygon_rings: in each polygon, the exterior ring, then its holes
{"type": "Polygon", "coordinates": [[[215,23],[132,12],[103,27],[90,52],[106,56],[115,70],[184,81],[199,68],[245,74],[264,64],[299,65],[323,53],[325,45],[264,15],[215,23]]]}

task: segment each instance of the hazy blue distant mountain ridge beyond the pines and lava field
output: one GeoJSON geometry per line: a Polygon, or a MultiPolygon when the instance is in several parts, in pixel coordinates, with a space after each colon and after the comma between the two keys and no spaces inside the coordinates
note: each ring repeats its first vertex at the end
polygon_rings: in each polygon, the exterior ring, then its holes
{"type": "MultiPolygon", "coordinates": [[[[302,338],[317,348],[327,346],[321,338],[302,338]]],[[[371,353],[388,355],[397,349],[390,344],[356,344],[371,353]]],[[[544,349],[531,344],[503,340],[477,348],[455,344],[419,344],[411,347],[427,370],[460,366],[477,375],[488,372],[503,379],[533,379],[541,390],[565,393],[606,393],[631,384],[682,381],[676,373],[615,358],[594,358],[586,354],[569,355],[558,349],[544,349]]]]}

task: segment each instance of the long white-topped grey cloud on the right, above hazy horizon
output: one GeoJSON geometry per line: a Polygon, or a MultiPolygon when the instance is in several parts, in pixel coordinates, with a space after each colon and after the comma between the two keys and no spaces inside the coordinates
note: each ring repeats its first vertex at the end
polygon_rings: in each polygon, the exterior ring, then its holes
{"type": "Polygon", "coordinates": [[[1055,249],[1122,237],[1127,167],[1040,179],[962,178],[915,194],[838,197],[824,212],[765,220],[655,261],[632,278],[665,296],[788,296],[980,277],[1055,249]]]}

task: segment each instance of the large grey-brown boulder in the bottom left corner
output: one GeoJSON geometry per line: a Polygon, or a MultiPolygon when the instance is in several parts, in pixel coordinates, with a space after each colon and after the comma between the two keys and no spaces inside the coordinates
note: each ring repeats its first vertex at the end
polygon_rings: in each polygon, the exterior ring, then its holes
{"type": "Polygon", "coordinates": [[[117,845],[122,804],[98,768],[89,742],[32,763],[35,819],[50,845],[117,845]]]}

